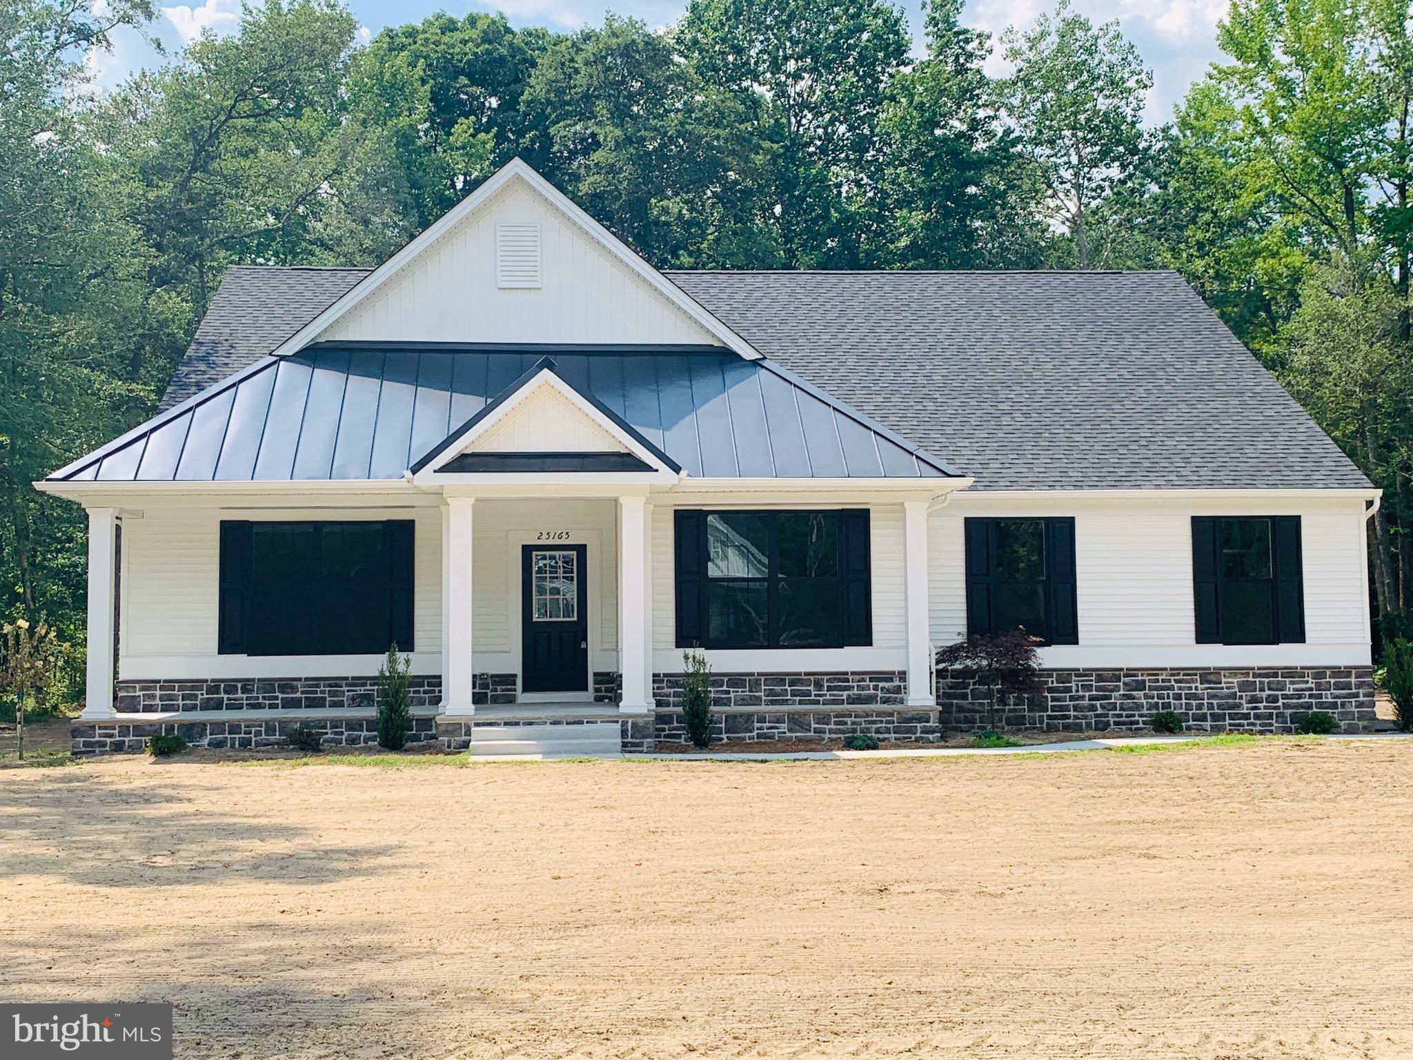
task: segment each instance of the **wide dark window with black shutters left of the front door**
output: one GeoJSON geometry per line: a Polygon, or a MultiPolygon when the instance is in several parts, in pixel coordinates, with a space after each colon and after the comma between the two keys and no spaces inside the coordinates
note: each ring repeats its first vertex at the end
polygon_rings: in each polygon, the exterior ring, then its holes
{"type": "Polygon", "coordinates": [[[413,523],[220,524],[222,654],[413,650],[413,523]]]}

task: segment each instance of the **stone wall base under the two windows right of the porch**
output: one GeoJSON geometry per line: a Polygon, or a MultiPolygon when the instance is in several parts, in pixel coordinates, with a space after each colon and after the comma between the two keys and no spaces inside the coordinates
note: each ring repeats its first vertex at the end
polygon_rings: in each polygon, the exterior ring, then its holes
{"type": "MultiPolygon", "coordinates": [[[[1176,711],[1198,732],[1291,732],[1306,711],[1328,711],[1344,732],[1373,728],[1373,671],[1260,670],[1047,670],[1046,691],[999,711],[1010,728],[1050,731],[1146,729],[1156,711],[1176,711]]],[[[968,673],[937,674],[945,729],[991,724],[988,694],[968,673]]]]}

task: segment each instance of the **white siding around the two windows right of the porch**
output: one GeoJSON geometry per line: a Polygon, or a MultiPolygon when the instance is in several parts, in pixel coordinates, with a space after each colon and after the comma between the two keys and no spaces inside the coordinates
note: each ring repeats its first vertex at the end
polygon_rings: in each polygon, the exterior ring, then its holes
{"type": "Polygon", "coordinates": [[[965,516],[1072,516],[1080,643],[1041,649],[1050,667],[1368,666],[1369,612],[1361,500],[1109,500],[1074,493],[1023,502],[958,495],[928,523],[931,639],[966,636],[965,516]],[[1306,642],[1198,644],[1193,516],[1299,514],[1306,642]]]}

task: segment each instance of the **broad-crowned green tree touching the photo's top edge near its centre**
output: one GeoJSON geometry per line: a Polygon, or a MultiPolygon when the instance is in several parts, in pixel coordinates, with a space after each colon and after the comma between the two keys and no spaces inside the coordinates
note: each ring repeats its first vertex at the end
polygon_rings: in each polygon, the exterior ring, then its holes
{"type": "Polygon", "coordinates": [[[781,264],[868,263],[885,223],[879,123],[889,81],[907,61],[897,8],[882,0],[692,0],[677,44],[779,146],[766,209],[781,264]]]}

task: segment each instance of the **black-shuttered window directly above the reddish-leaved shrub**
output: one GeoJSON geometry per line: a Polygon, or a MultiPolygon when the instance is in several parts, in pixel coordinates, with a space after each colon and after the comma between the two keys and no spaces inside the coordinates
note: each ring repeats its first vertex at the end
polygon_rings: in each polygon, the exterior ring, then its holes
{"type": "Polygon", "coordinates": [[[1080,643],[1072,519],[968,519],[966,632],[1080,643]]]}

